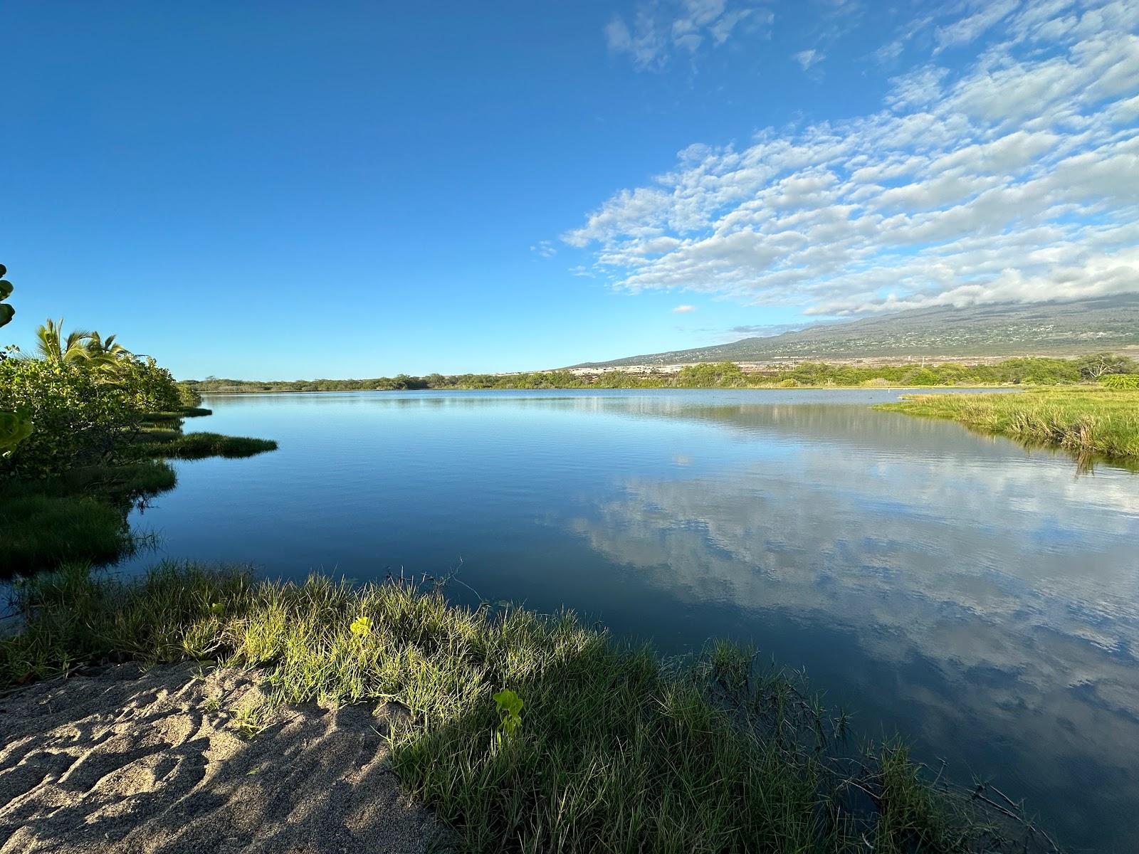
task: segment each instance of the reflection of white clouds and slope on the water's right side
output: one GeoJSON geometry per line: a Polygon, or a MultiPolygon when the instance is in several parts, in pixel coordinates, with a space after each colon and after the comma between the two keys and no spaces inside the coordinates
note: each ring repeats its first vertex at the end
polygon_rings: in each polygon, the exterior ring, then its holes
{"type": "Polygon", "coordinates": [[[754,460],[678,449],[670,476],[583,496],[560,524],[596,551],[678,602],[842,632],[851,693],[986,771],[1007,759],[1047,802],[1139,803],[1139,478],[865,408],[628,413],[720,425],[754,460]]]}

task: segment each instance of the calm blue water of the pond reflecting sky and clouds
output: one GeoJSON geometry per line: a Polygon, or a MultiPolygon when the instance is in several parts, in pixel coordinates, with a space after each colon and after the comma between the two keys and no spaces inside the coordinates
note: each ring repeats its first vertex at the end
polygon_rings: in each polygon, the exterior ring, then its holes
{"type": "Polygon", "coordinates": [[[1139,477],[869,409],[894,396],[215,396],[188,428],[280,450],[179,463],[133,522],[169,557],[355,578],[461,561],[485,599],[666,651],[748,640],[1071,847],[1139,848],[1139,477]]]}

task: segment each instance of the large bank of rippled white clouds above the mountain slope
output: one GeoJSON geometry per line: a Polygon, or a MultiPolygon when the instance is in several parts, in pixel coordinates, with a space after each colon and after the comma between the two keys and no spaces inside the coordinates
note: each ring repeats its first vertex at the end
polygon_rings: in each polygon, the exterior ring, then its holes
{"type": "Polygon", "coordinates": [[[937,31],[994,35],[972,66],[915,68],[862,117],[689,146],[563,239],[617,288],[809,314],[1139,290],[1139,2],[994,6],[937,31]]]}

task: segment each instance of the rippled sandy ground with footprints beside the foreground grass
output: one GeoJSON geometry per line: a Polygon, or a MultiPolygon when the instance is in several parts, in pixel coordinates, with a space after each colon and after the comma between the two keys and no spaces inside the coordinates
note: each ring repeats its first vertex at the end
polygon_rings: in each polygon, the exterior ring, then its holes
{"type": "Polygon", "coordinates": [[[243,715],[257,673],[116,665],[0,697],[0,853],[426,852],[400,794],[393,709],[243,715]],[[246,731],[248,731],[246,726],[246,731]]]}

